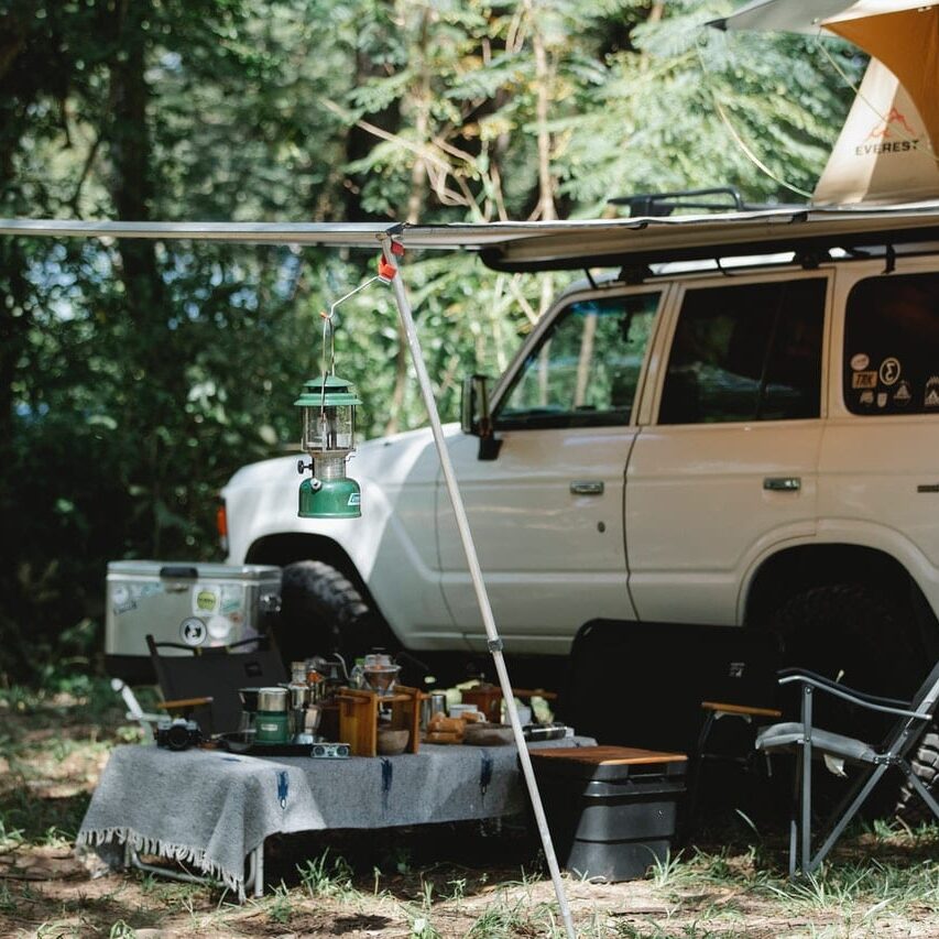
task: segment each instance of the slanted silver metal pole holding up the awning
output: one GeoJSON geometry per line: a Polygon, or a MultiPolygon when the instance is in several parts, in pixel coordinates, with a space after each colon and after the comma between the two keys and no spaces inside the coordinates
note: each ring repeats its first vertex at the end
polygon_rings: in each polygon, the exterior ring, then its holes
{"type": "Polygon", "coordinates": [[[505,667],[505,658],[502,655],[502,640],[499,637],[499,630],[495,626],[495,619],[492,615],[492,607],[489,602],[489,593],[485,589],[485,583],[482,579],[482,570],[479,566],[479,558],[476,553],[472,533],[470,532],[469,521],[467,520],[466,509],[463,507],[462,495],[460,494],[457,477],[454,473],[454,465],[450,462],[450,454],[447,450],[447,443],[444,439],[444,428],[440,426],[440,414],[437,411],[437,402],[434,398],[434,390],[430,386],[430,378],[427,374],[427,367],[424,363],[424,353],[421,350],[421,342],[417,338],[417,328],[414,325],[414,316],[411,309],[411,302],[407,298],[407,292],[404,288],[404,282],[401,279],[401,269],[397,256],[392,251],[392,239],[389,234],[379,236],[382,245],[382,253],[385,262],[391,264],[396,275],[392,277],[391,285],[394,290],[394,298],[397,304],[397,312],[401,315],[401,321],[404,326],[404,332],[407,337],[407,346],[411,350],[411,358],[414,362],[414,369],[417,372],[417,383],[421,385],[421,394],[424,397],[424,404],[427,408],[427,415],[430,418],[430,429],[434,433],[434,443],[437,446],[437,456],[440,459],[440,468],[444,471],[444,481],[447,484],[447,492],[450,496],[450,502],[454,506],[454,514],[457,520],[457,528],[460,532],[460,541],[463,545],[463,550],[469,565],[472,586],[476,590],[476,599],[479,603],[480,612],[482,613],[482,622],[485,626],[485,634],[489,640],[489,651],[492,654],[492,662],[495,665],[495,672],[499,675],[499,685],[502,688],[502,697],[505,699],[505,710],[509,714],[509,722],[512,724],[512,733],[515,738],[515,746],[518,750],[518,762],[522,764],[522,775],[525,777],[525,785],[528,788],[528,797],[532,800],[532,808],[535,811],[535,822],[538,826],[538,834],[542,838],[542,847],[545,851],[545,860],[547,861],[548,870],[554,882],[555,895],[557,896],[558,906],[560,907],[560,916],[564,920],[565,929],[567,930],[568,939],[577,939],[577,933],[574,929],[574,920],[570,917],[570,907],[567,903],[567,894],[564,889],[564,882],[560,878],[560,870],[555,855],[554,844],[552,843],[548,822],[545,818],[545,809],[542,805],[542,797],[538,793],[538,784],[535,782],[535,772],[532,768],[532,757],[528,755],[528,747],[525,742],[525,736],[522,733],[522,722],[518,720],[518,711],[515,708],[515,696],[512,694],[512,684],[509,680],[509,670],[505,667]]]}

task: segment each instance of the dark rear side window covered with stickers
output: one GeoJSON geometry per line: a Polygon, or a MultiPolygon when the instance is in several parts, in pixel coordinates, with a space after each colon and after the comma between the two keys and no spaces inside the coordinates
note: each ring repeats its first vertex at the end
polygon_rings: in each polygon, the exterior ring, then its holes
{"type": "Polygon", "coordinates": [[[861,281],[844,319],[848,410],[939,414],[939,274],[861,281]]]}

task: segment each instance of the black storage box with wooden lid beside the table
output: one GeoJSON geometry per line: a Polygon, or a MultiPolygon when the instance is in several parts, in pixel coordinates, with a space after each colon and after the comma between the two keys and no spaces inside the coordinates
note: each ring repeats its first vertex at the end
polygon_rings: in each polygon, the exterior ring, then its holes
{"type": "Polygon", "coordinates": [[[685,791],[685,754],[564,747],[533,752],[532,764],[563,867],[630,881],[666,859],[685,791]]]}

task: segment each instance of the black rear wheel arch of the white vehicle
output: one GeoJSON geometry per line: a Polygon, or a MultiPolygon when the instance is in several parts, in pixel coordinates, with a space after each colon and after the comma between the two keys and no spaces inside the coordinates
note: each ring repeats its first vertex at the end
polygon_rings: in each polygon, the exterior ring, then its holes
{"type": "Polygon", "coordinates": [[[854,544],[798,545],[763,560],[750,579],[744,602],[746,626],[768,629],[787,599],[817,587],[877,585],[904,604],[924,651],[939,658],[939,620],[907,568],[878,548],[854,544]]]}

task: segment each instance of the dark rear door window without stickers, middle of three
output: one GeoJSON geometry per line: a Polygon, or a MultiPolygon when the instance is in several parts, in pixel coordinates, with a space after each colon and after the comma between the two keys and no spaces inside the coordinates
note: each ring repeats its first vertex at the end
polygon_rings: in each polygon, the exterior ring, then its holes
{"type": "Polygon", "coordinates": [[[659,424],[818,417],[823,279],[689,290],[659,424]]]}

